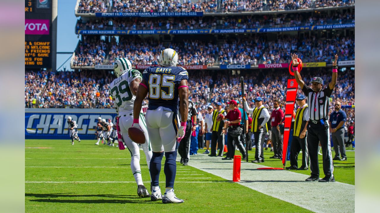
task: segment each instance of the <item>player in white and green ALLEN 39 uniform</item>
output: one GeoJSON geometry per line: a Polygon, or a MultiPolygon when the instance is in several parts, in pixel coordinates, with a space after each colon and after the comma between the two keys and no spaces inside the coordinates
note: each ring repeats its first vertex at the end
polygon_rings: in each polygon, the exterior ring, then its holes
{"type": "MultiPolygon", "coordinates": [[[[150,197],[148,190],[145,188],[144,183],[142,183],[139,146],[128,136],[128,128],[133,124],[133,105],[136,99],[136,92],[142,80],[142,75],[139,70],[131,68],[132,64],[126,58],[119,58],[115,61],[114,73],[117,78],[109,85],[109,93],[114,100],[114,107],[119,116],[117,125],[119,125],[122,138],[131,153],[131,169],[138,185],[137,194],[140,197],[150,197]]],[[[141,147],[142,150],[144,150],[149,169],[150,159],[152,158],[152,148],[142,111],[140,111],[140,117],[140,126],[144,130],[146,139],[141,147]]]]}

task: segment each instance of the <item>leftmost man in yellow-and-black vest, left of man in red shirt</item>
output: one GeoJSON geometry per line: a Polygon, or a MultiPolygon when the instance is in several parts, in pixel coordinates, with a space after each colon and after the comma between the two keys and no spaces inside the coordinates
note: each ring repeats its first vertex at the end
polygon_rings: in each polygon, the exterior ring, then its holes
{"type": "Polygon", "coordinates": [[[211,154],[209,156],[216,157],[216,144],[218,143],[219,153],[218,157],[223,157],[223,149],[224,149],[224,134],[222,132],[224,121],[217,121],[217,117],[219,114],[222,114],[222,118],[224,118],[227,113],[222,108],[222,103],[217,102],[215,104],[216,110],[212,113],[212,135],[211,135],[211,154]]]}

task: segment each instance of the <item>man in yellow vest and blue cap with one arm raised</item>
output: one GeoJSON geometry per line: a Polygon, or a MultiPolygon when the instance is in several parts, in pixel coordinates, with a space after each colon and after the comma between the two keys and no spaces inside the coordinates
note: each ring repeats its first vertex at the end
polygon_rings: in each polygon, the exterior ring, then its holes
{"type": "Polygon", "coordinates": [[[266,123],[270,119],[269,111],[263,105],[263,99],[261,97],[255,98],[255,107],[250,108],[248,106],[247,100],[243,97],[245,111],[252,114],[252,124],[251,131],[255,138],[255,160],[252,163],[262,163],[264,162],[264,141],[265,134],[268,132],[268,127],[266,123]]]}

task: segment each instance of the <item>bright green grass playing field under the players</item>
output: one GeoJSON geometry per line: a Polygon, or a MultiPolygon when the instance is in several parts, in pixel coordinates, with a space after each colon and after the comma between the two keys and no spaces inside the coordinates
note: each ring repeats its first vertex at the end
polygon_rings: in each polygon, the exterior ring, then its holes
{"type": "MultiPolygon", "coordinates": [[[[185,202],[167,205],[151,202],[150,198],[137,196],[128,150],[94,143],[84,140],[72,146],[68,140],[25,140],[25,212],[144,212],[152,211],[152,207],[157,208],[155,211],[172,212],[310,212],[179,163],[174,189],[185,202]],[[203,179],[197,179],[197,175],[203,179]],[[106,183],[117,181],[126,183],[106,183]]],[[[252,151],[250,154],[252,157],[252,151]]],[[[280,160],[269,160],[271,154],[265,152],[263,164],[280,167],[280,160]]],[[[354,184],[355,153],[347,155],[347,162],[334,164],[334,174],[337,181],[354,184]]],[[[142,179],[149,188],[149,172],[142,151],[140,164],[142,179]]],[[[160,181],[161,189],[165,188],[163,171],[160,181]]]]}

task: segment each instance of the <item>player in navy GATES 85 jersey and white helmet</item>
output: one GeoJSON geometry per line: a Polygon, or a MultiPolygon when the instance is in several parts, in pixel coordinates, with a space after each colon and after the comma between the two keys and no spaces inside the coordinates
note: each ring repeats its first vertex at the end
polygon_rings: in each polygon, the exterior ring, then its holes
{"type": "Polygon", "coordinates": [[[145,117],[153,150],[150,160],[150,177],[152,179],[150,199],[153,201],[162,199],[165,204],[184,202],[176,197],[173,187],[177,170],[177,148],[186,129],[188,73],[183,67],[177,66],[177,63],[178,54],[173,49],[165,49],[160,53],[161,66],[148,67],[142,73],[142,81],[137,90],[133,109],[132,127],[140,128],[138,112],[141,111],[142,101],[149,94],[149,105],[145,117]],[[166,190],[162,196],[158,179],[164,152],[166,190]]]}

